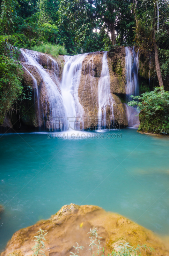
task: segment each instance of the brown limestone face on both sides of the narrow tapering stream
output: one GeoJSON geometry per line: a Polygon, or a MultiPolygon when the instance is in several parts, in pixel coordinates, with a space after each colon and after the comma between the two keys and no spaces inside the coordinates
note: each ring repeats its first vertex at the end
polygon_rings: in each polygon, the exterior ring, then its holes
{"type": "MultiPolygon", "coordinates": [[[[82,64],[81,80],[78,94],[79,102],[84,108],[84,128],[93,127],[97,123],[98,116],[98,83],[102,70],[103,52],[88,53],[82,64]],[[93,120],[91,123],[89,120],[93,120]]],[[[127,126],[128,121],[120,98],[116,94],[125,94],[125,48],[119,47],[115,52],[107,53],[107,62],[110,74],[110,90],[114,98],[114,118],[122,125],[127,126]]],[[[109,106],[106,108],[106,116],[110,116],[109,106]]],[[[107,125],[109,119],[107,118],[107,125]]]]}

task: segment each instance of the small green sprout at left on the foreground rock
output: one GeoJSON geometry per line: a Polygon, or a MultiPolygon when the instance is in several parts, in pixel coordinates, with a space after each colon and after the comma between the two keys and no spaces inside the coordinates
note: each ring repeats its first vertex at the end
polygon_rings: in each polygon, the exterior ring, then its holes
{"type": "Polygon", "coordinates": [[[42,249],[46,249],[45,248],[45,244],[42,240],[46,241],[45,237],[47,233],[45,233],[46,230],[42,230],[41,228],[39,229],[39,231],[37,232],[39,235],[34,236],[36,239],[34,239],[35,241],[35,245],[33,246],[33,248],[31,249],[33,252],[32,256],[38,256],[39,254],[45,256],[45,252],[42,249]]]}

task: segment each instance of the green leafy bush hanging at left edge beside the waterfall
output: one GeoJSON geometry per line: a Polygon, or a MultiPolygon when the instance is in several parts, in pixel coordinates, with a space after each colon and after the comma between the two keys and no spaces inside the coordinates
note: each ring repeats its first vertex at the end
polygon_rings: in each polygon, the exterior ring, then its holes
{"type": "Polygon", "coordinates": [[[11,109],[22,94],[21,66],[13,59],[0,56],[0,124],[4,116],[11,109]]]}

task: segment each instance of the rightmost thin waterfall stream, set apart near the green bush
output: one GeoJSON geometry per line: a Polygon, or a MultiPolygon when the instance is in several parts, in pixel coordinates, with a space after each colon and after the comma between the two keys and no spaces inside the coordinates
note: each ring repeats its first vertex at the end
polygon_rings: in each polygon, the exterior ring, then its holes
{"type": "MultiPolygon", "coordinates": [[[[138,95],[139,94],[139,60],[138,55],[139,51],[135,52],[134,46],[132,48],[125,47],[126,51],[126,100],[129,102],[133,100],[131,95],[138,95]]],[[[128,119],[128,126],[129,127],[138,127],[139,120],[138,120],[138,111],[136,107],[130,107],[127,104],[126,106],[126,116],[128,119]]]]}

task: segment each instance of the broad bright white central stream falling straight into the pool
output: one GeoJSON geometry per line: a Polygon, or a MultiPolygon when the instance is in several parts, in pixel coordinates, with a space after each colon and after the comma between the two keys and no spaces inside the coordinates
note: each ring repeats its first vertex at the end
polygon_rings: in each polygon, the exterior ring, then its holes
{"type": "Polygon", "coordinates": [[[81,78],[82,61],[87,54],[88,53],[64,56],[66,63],[63,68],[61,93],[65,108],[65,130],[68,128],[70,130],[71,127],[79,130],[80,127],[83,126],[82,117],[84,115],[84,109],[79,103],[78,88],[81,78]],[[69,124],[71,125],[69,126],[69,124]]]}

